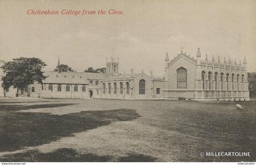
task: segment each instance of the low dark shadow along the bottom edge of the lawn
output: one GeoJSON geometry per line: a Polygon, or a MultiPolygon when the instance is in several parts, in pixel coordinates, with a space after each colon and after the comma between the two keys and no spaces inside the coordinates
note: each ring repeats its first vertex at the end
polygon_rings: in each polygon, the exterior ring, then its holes
{"type": "Polygon", "coordinates": [[[54,152],[41,153],[38,150],[30,150],[24,153],[15,153],[12,155],[5,155],[0,158],[0,161],[49,161],[49,162],[106,162],[106,161],[122,161],[122,162],[151,162],[156,159],[142,154],[129,153],[128,156],[114,158],[110,155],[99,156],[93,153],[80,154],[74,149],[61,148],[54,150],[54,152]]]}

